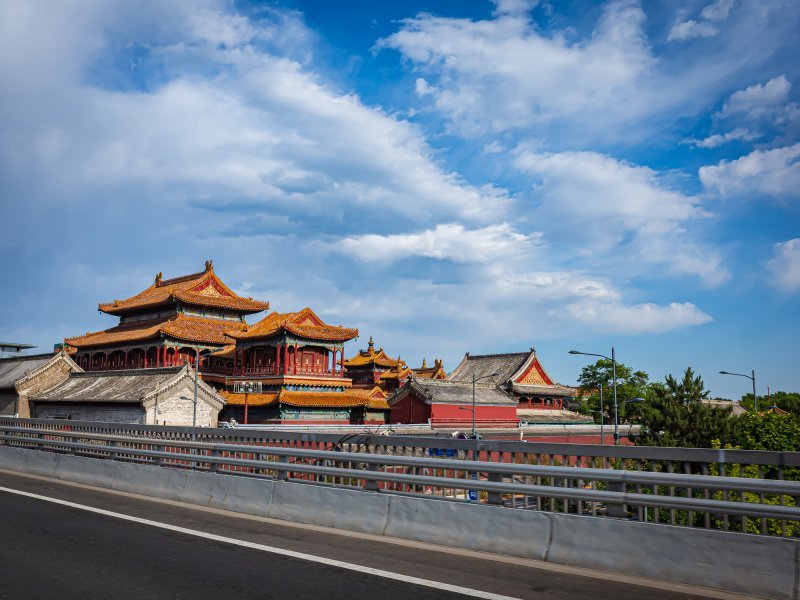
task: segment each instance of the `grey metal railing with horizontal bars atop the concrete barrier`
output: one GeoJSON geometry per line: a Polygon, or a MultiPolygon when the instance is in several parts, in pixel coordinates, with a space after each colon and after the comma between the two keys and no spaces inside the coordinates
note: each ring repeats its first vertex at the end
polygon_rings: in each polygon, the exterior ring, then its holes
{"type": "Polygon", "coordinates": [[[518,453],[516,442],[489,440],[274,431],[250,431],[242,439],[230,433],[0,418],[0,444],[50,452],[517,509],[800,535],[800,481],[792,480],[800,479],[798,453],[581,446],[580,455],[571,455],[579,445],[523,444],[527,452],[518,453]],[[686,465],[701,467],[656,468],[669,465],[674,451],[686,465]],[[632,453],[635,458],[628,457],[632,453]],[[726,469],[735,476],[725,475],[726,469]]]}

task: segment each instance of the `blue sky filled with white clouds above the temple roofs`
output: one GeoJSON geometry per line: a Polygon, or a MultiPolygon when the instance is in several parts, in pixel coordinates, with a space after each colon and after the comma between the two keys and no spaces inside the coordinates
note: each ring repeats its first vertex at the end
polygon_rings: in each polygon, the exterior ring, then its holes
{"type": "Polygon", "coordinates": [[[348,356],[800,391],[797,31],[794,0],[5,0],[0,339],[213,259],[348,356]]]}

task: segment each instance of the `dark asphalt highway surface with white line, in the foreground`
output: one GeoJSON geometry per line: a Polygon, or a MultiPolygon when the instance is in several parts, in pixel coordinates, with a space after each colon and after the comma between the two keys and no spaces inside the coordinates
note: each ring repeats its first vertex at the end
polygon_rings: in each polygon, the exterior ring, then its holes
{"type": "Polygon", "coordinates": [[[736,597],[2,471],[0,523],[0,598],[15,600],[736,597]]]}

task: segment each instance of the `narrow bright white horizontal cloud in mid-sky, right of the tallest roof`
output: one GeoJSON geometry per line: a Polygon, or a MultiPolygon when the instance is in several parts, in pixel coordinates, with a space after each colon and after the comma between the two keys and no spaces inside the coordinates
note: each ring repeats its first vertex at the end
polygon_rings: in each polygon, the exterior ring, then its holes
{"type": "Polygon", "coordinates": [[[390,263],[424,256],[457,263],[487,263],[530,252],[538,237],[518,233],[508,223],[475,230],[449,223],[420,233],[351,237],[336,242],[332,249],[367,262],[390,263]]]}

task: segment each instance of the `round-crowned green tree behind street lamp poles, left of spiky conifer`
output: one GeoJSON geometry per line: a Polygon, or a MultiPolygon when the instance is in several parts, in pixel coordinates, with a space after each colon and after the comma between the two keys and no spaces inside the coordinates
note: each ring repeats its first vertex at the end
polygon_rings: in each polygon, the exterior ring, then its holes
{"type": "MultiPolygon", "coordinates": [[[[634,371],[630,367],[617,363],[617,404],[620,423],[626,422],[635,411],[625,400],[645,394],[649,378],[644,371],[634,371]]],[[[600,422],[600,388],[603,389],[603,411],[606,422],[614,418],[613,367],[611,361],[599,359],[593,365],[586,365],[578,376],[578,386],[582,393],[588,393],[576,410],[583,414],[592,414],[596,423],[600,422]],[[593,412],[594,411],[594,412],[593,412]]]]}

